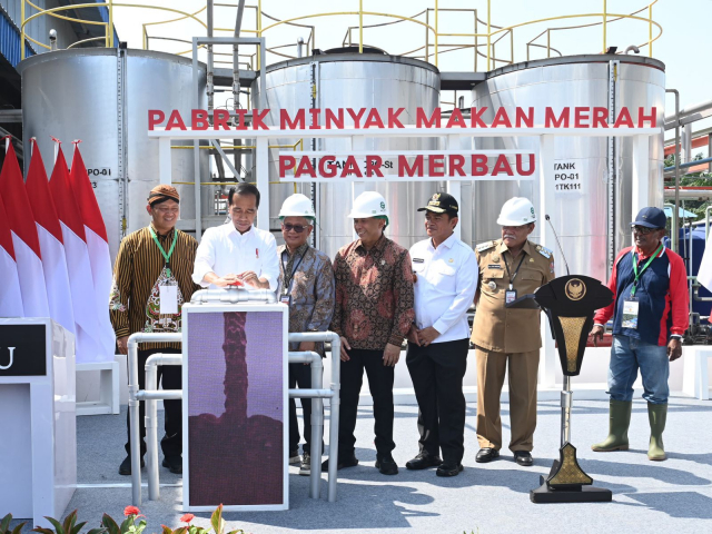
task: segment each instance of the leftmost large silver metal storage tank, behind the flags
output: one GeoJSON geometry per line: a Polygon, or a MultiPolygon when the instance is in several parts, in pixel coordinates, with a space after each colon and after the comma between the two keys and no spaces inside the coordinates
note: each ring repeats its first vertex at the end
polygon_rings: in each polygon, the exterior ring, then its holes
{"type": "MultiPolygon", "coordinates": [[[[190,116],[197,90],[206,107],[206,68],[199,63],[194,87],[191,61],[170,53],[96,48],[57,50],[26,59],[22,75],[23,142],[36,137],[48,176],[53,167],[51,137],[80,150],[90,175],[109,237],[111,259],[121,237],[148,222],[146,199],[158,184],[158,140],[148,138],[148,110],[180,110],[190,116]]],[[[172,145],[180,145],[174,141],[172,145]]],[[[207,150],[200,175],[208,179],[207,150]]],[[[194,181],[192,150],[172,150],[172,181],[194,181]]],[[[26,170],[29,158],[26,158],[26,170]]],[[[177,186],[179,228],[195,229],[194,186],[177,186]]]]}

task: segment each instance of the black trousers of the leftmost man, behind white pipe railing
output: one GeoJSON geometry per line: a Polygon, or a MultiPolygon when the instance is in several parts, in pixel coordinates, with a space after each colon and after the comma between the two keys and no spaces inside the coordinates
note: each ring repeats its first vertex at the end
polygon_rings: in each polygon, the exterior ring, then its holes
{"type": "MultiPolygon", "coordinates": [[[[144,367],[146,360],[151,354],[180,354],[177,348],[151,348],[149,350],[138,352],[138,387],[146,389],[146,373],[144,367]]],[[[164,389],[181,389],[181,367],[179,365],[159,365],[158,366],[158,384],[164,389]]],[[[182,400],[164,400],[165,409],[165,429],[166,435],[160,441],[160,448],[167,458],[180,456],[182,454],[182,400]]],[[[146,454],[146,403],[139,403],[139,428],[141,429],[141,456],[146,454]]],[[[128,441],[123,446],[128,454],[131,453],[131,416],[126,416],[126,426],[128,428],[128,441]]]]}

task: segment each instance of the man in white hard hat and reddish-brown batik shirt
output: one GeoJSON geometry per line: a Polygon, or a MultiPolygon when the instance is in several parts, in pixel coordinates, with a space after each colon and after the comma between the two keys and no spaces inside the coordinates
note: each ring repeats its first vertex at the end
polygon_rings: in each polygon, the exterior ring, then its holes
{"type": "Polygon", "coordinates": [[[354,429],[365,369],[374,399],[376,468],[395,475],[393,379],[400,345],[415,317],[411,255],[384,236],[388,210],[379,194],[359,195],[348,217],[354,219],[358,239],[339,249],[334,259],[332,330],[342,337],[338,468],[358,464],[354,429]]]}

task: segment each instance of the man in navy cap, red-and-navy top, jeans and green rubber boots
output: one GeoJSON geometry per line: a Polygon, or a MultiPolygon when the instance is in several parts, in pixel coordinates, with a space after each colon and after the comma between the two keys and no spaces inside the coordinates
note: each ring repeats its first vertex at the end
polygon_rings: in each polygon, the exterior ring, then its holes
{"type": "Polygon", "coordinates": [[[627,451],[633,383],[640,368],[651,428],[647,458],[662,461],[670,362],[682,355],[682,335],[689,320],[688,278],[682,258],[662,243],[665,236],[662,209],[643,208],[631,226],[634,246],[621,250],[609,281],[615,299],[597,312],[591,330],[597,344],[603,338],[604,325],[613,317],[609,436],[591,448],[627,451]]]}

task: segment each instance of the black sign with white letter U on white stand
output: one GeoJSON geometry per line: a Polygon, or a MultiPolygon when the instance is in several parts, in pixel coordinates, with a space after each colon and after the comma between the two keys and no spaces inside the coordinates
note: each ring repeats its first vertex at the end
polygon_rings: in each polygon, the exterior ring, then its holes
{"type": "Polygon", "coordinates": [[[47,375],[44,325],[0,325],[0,377],[47,375]]]}

